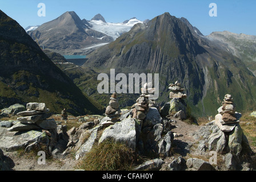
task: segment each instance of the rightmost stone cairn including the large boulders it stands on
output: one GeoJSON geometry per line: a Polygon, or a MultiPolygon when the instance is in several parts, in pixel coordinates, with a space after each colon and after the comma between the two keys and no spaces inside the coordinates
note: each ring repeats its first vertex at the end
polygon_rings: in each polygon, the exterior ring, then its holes
{"type": "Polygon", "coordinates": [[[242,149],[245,149],[248,154],[251,153],[249,142],[239,125],[241,117],[242,114],[235,111],[232,96],[226,94],[218,114],[215,115],[214,125],[211,127],[212,133],[208,139],[209,150],[215,148],[217,152],[230,152],[237,157],[242,149]]]}

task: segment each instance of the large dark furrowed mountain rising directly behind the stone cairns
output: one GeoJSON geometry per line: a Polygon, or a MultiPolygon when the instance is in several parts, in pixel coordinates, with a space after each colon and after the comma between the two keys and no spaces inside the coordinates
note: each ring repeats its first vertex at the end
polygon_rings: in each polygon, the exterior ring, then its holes
{"type": "Polygon", "coordinates": [[[191,110],[215,114],[229,90],[235,90],[239,109],[248,109],[256,97],[255,77],[238,57],[218,40],[195,32],[186,20],[169,13],[146,24],[135,24],[114,42],[91,53],[84,67],[109,73],[159,73],[160,98],[168,100],[170,82],[184,85],[191,110]],[[216,100],[217,98],[217,100],[216,100]]]}

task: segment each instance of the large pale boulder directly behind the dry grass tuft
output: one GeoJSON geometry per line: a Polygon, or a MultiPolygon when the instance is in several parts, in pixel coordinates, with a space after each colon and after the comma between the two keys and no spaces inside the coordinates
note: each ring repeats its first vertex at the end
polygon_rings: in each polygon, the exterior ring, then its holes
{"type": "Polygon", "coordinates": [[[115,142],[126,144],[128,147],[135,150],[136,142],[140,134],[138,121],[133,118],[123,119],[121,122],[115,123],[107,127],[99,139],[99,143],[106,139],[113,139],[115,142]]]}

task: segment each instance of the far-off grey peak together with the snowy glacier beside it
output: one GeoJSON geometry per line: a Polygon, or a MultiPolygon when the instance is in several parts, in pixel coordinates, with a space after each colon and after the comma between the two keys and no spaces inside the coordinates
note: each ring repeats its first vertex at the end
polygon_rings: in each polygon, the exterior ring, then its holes
{"type": "Polygon", "coordinates": [[[42,47],[62,55],[87,54],[95,48],[113,42],[130,30],[137,19],[127,23],[107,23],[101,14],[91,20],[80,19],[74,11],[67,11],[41,26],[27,27],[27,34],[42,47]]]}

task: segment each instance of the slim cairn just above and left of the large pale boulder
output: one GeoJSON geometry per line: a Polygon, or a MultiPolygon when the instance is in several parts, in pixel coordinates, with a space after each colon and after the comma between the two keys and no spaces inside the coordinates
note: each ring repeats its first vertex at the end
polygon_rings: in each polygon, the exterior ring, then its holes
{"type": "Polygon", "coordinates": [[[117,99],[117,93],[113,93],[110,97],[109,106],[106,107],[106,117],[102,119],[102,125],[114,125],[115,122],[120,121],[119,117],[121,109],[119,108],[119,102],[117,99]]]}

